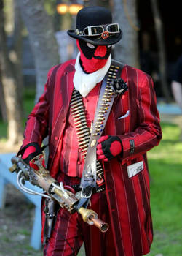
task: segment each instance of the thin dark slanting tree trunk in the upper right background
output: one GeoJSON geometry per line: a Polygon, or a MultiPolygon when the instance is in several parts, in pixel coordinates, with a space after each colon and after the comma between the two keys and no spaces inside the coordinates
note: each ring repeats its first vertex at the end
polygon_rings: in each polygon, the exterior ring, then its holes
{"type": "Polygon", "coordinates": [[[154,16],[154,25],[157,36],[157,46],[159,50],[159,75],[162,86],[162,93],[167,100],[170,101],[170,91],[167,87],[167,69],[166,69],[166,54],[165,54],[165,42],[163,35],[162,19],[160,17],[157,0],[151,0],[151,10],[154,16]]]}

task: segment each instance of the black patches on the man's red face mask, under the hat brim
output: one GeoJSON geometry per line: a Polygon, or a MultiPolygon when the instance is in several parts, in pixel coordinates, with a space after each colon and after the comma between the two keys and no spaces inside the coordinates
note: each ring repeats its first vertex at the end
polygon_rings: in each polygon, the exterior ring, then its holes
{"type": "Polygon", "coordinates": [[[92,45],[93,48],[90,48],[88,45],[87,45],[87,42],[84,42],[84,41],[81,41],[79,40],[79,46],[80,46],[80,49],[82,50],[82,53],[84,54],[84,56],[87,58],[87,59],[92,59],[93,57],[95,59],[108,59],[108,56],[110,55],[111,53],[111,46],[108,47],[106,45],[106,48],[107,48],[107,51],[106,51],[106,55],[105,56],[94,56],[94,53],[95,51],[97,50],[98,48],[98,45],[92,45]]]}

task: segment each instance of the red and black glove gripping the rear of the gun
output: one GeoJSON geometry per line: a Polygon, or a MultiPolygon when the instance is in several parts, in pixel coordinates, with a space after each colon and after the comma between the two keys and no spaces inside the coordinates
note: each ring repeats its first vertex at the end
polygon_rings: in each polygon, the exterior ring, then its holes
{"type": "MultiPolygon", "coordinates": [[[[26,164],[30,165],[33,169],[38,170],[39,168],[37,168],[37,166],[33,164],[31,160],[34,157],[38,156],[39,154],[42,154],[43,153],[42,151],[43,151],[43,148],[41,148],[38,143],[32,142],[24,146],[20,150],[19,154],[22,156],[22,159],[26,164]]],[[[42,162],[42,164],[44,166],[44,161],[42,162]]]]}

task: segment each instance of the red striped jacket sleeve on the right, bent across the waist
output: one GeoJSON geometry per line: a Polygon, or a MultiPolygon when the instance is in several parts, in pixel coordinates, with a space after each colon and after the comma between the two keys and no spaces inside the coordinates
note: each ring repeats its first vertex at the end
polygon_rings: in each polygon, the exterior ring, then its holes
{"type": "Polygon", "coordinates": [[[122,140],[122,159],[143,154],[159,144],[162,130],[159,124],[157,99],[153,81],[149,75],[143,75],[138,82],[138,127],[135,131],[119,135],[122,140]]]}

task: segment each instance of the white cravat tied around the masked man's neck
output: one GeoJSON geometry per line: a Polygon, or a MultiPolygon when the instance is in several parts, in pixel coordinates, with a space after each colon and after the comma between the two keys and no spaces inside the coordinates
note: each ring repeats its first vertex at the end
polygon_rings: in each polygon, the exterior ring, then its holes
{"type": "Polygon", "coordinates": [[[108,69],[111,65],[111,54],[108,57],[106,65],[97,71],[86,74],[84,73],[82,67],[79,64],[80,53],[76,57],[75,63],[75,74],[74,74],[74,88],[79,91],[82,97],[86,97],[87,94],[92,91],[97,83],[100,83],[103,80],[104,76],[108,72],[108,69]]]}

